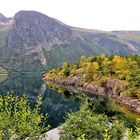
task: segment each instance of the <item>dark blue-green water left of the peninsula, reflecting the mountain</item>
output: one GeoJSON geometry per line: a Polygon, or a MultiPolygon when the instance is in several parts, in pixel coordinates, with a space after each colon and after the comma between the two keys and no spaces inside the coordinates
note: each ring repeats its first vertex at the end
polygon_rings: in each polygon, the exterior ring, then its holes
{"type": "Polygon", "coordinates": [[[40,75],[14,74],[0,84],[1,94],[5,95],[8,91],[13,91],[19,96],[25,94],[32,104],[39,95],[42,95],[41,113],[49,114],[48,123],[52,127],[64,122],[66,112],[79,109],[79,102],[72,97],[65,98],[63,94],[50,90],[40,75]]]}

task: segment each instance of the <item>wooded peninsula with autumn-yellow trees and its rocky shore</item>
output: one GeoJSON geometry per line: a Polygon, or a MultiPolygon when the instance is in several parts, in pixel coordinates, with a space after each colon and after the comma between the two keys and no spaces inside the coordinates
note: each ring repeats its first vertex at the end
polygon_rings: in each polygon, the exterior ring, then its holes
{"type": "Polygon", "coordinates": [[[79,94],[109,96],[140,113],[140,56],[82,56],[43,77],[48,83],[73,86],[79,94]]]}

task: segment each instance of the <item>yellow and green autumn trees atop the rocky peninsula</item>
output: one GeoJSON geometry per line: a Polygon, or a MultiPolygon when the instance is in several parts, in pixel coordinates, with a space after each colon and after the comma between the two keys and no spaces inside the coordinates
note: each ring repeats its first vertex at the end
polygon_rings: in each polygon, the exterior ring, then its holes
{"type": "MultiPolygon", "coordinates": [[[[127,96],[140,98],[140,56],[122,57],[119,55],[85,57],[81,56],[75,64],[64,63],[59,70],[53,70],[54,74],[46,74],[48,77],[66,79],[77,76],[81,81],[97,82],[103,85],[109,79],[118,80],[124,84],[118,87],[119,92],[125,90],[127,96]]],[[[51,71],[52,72],[52,71],[51,71]]]]}

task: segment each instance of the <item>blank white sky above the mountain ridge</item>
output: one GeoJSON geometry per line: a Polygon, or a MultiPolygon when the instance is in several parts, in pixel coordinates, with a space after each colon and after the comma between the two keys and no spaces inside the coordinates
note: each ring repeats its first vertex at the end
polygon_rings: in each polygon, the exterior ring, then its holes
{"type": "Polygon", "coordinates": [[[65,24],[98,30],[140,30],[140,0],[0,0],[7,17],[34,10],[65,24]]]}

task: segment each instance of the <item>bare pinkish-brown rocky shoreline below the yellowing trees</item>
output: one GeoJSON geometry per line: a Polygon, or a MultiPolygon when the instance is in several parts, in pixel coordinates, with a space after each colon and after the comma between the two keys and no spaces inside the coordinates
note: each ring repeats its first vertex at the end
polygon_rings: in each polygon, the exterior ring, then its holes
{"type": "Polygon", "coordinates": [[[73,92],[74,94],[83,94],[87,97],[92,97],[95,94],[99,96],[107,96],[113,98],[116,102],[128,106],[132,111],[140,113],[140,101],[132,97],[125,96],[127,84],[120,80],[106,80],[102,85],[99,83],[86,83],[81,81],[80,77],[68,77],[65,80],[58,78],[52,80],[44,78],[45,81],[50,81],[58,87],[61,85],[64,89],[73,92]]]}

